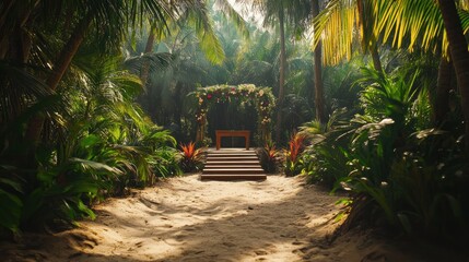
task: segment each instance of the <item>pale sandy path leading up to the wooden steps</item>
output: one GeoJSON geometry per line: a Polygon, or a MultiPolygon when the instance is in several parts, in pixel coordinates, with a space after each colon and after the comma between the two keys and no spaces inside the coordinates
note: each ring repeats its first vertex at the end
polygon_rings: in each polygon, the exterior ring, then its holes
{"type": "MultiPolygon", "coordinates": [[[[330,241],[343,211],[304,178],[200,181],[188,175],[108,199],[95,221],[0,243],[0,261],[431,261],[364,231],[330,241]]],[[[438,253],[435,251],[435,253],[438,253]]],[[[433,260],[432,260],[433,261],[433,260]]],[[[437,261],[437,260],[434,260],[437,261]]]]}

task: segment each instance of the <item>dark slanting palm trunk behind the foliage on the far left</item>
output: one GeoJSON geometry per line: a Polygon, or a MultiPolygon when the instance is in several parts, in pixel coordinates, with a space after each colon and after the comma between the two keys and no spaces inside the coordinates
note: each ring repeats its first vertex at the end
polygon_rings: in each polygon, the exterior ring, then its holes
{"type": "MultiPolygon", "coordinates": [[[[92,12],[90,12],[80,21],[80,23],[74,28],[72,35],[70,36],[70,39],[67,41],[67,44],[60,51],[60,55],[56,63],[54,64],[52,72],[46,80],[46,84],[50,91],[57,90],[57,86],[62,80],[63,74],[69,68],[74,55],[77,53],[80,45],[84,39],[84,35],[91,24],[92,17],[93,14],[92,12]]],[[[36,116],[30,121],[27,126],[25,138],[33,145],[36,145],[39,142],[44,120],[44,116],[36,116]]]]}

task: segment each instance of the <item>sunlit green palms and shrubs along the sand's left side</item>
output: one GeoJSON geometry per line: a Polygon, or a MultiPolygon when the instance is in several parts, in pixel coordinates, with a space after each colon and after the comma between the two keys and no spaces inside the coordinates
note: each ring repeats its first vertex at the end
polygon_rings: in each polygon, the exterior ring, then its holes
{"type": "Polygon", "coordinates": [[[14,136],[22,126],[10,122],[1,130],[0,230],[17,234],[94,218],[94,201],[180,174],[175,139],[132,102],[140,81],[117,64],[114,59],[77,60],[77,69],[83,69],[74,71],[80,81],[49,107],[54,121],[45,136],[50,139],[35,152],[36,168],[21,169],[11,160],[30,148],[14,136]]]}

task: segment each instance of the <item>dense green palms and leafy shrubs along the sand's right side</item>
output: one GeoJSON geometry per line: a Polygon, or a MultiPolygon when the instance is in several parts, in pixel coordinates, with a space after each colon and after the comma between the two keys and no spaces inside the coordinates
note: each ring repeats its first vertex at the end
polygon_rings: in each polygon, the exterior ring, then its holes
{"type": "Polygon", "coordinates": [[[410,235],[457,241],[469,229],[462,129],[429,128],[419,73],[364,70],[362,115],[338,111],[326,126],[302,128],[310,141],[305,172],[352,192],[349,225],[386,221],[410,235]]]}

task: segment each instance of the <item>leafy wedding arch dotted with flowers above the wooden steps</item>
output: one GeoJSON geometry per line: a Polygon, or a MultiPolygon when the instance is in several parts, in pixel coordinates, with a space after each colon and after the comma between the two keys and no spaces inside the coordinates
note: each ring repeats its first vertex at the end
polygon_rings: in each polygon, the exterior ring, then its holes
{"type": "Polygon", "coordinates": [[[275,106],[275,97],[270,87],[256,87],[254,84],[213,85],[200,87],[195,92],[198,99],[197,139],[204,141],[207,133],[207,112],[215,103],[239,103],[255,106],[257,110],[257,139],[263,144],[271,139],[271,116],[275,106]]]}

